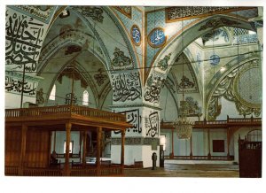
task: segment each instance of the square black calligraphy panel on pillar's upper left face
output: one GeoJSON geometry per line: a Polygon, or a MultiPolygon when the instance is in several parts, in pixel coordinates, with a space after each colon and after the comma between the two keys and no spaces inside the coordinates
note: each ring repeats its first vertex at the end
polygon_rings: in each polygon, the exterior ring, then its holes
{"type": "Polygon", "coordinates": [[[113,74],[111,78],[113,101],[135,101],[141,98],[142,91],[138,73],[113,74]]]}

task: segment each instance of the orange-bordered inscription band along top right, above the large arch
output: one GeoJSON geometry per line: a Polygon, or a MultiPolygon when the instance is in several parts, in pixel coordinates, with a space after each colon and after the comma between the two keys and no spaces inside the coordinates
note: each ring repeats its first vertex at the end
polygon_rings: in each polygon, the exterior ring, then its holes
{"type": "Polygon", "coordinates": [[[183,19],[207,17],[213,14],[235,12],[238,10],[253,9],[254,7],[168,7],[166,8],[166,22],[173,22],[183,19]]]}

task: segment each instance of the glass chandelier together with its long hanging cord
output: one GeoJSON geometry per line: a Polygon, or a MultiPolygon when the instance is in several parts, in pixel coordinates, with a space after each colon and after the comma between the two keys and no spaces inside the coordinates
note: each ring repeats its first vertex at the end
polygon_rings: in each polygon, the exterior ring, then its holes
{"type": "MultiPolygon", "coordinates": [[[[184,50],[183,20],[182,20],[182,48],[184,50]]],[[[184,79],[184,54],[182,54],[182,80],[184,79]]],[[[184,100],[184,83],[182,86],[182,101],[180,101],[180,115],[174,122],[179,139],[190,139],[192,136],[193,121],[188,119],[188,102],[184,100]]]]}

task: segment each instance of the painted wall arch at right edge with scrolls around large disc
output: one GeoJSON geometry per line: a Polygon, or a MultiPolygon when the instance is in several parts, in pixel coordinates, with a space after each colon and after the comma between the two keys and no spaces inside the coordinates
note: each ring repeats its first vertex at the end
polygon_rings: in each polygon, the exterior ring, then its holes
{"type": "MultiPolygon", "coordinates": [[[[216,87],[208,102],[208,120],[215,120],[221,113],[221,97],[234,102],[240,115],[260,116],[262,112],[262,77],[259,60],[253,59],[228,73],[216,87]]],[[[223,106],[222,106],[223,108],[223,106]]]]}

